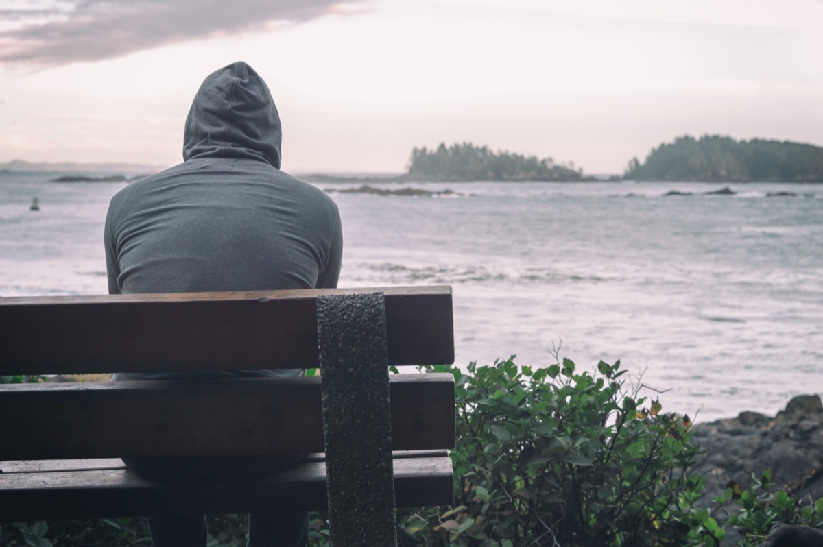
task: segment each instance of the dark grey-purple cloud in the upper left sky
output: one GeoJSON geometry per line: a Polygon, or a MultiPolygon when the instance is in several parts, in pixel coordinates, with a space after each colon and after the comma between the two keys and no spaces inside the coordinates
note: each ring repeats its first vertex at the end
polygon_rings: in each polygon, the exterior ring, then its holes
{"type": "Polygon", "coordinates": [[[341,0],[18,0],[0,9],[0,64],[53,67],[142,49],[265,30],[327,14],[341,0]]]}

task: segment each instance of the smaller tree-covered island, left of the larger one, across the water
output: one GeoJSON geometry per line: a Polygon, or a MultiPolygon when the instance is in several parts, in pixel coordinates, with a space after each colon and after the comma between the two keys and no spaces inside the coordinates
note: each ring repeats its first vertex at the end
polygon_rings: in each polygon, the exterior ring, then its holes
{"type": "Polygon", "coordinates": [[[557,165],[551,158],[538,159],[500,151],[495,154],[488,146],[471,142],[444,143],[429,151],[423,146],[412,151],[408,174],[447,180],[584,180],[583,169],[574,163],[557,165]]]}

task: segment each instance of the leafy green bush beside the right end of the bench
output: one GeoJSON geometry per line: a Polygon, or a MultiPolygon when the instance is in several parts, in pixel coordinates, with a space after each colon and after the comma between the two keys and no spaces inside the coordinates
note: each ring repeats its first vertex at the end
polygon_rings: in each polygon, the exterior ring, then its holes
{"type": "Polygon", "coordinates": [[[407,545],[685,545],[722,535],[693,508],[690,420],[625,392],[620,362],[449,369],[455,506],[402,519],[407,545]],[[700,523],[702,520],[702,524],[700,523]]]}

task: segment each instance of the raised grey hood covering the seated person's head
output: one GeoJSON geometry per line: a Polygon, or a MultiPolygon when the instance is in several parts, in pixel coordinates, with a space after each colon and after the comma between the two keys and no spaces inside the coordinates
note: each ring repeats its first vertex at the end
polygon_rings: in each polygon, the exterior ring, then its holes
{"type": "Polygon", "coordinates": [[[280,169],[280,116],[266,82],[246,63],[212,72],[188,111],[183,160],[249,158],[280,169]]]}

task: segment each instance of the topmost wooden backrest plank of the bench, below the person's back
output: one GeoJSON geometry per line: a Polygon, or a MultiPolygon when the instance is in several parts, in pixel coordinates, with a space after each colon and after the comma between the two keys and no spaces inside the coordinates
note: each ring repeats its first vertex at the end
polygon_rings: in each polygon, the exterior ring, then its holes
{"type": "Polygon", "coordinates": [[[452,363],[451,288],[0,299],[0,374],[310,368],[321,294],[383,292],[390,364],[452,363]]]}

